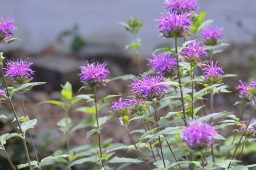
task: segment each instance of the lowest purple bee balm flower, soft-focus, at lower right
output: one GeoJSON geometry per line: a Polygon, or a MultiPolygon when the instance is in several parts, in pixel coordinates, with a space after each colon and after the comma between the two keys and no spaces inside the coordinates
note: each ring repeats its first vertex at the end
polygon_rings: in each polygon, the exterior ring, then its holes
{"type": "Polygon", "coordinates": [[[211,125],[207,125],[207,121],[198,125],[197,121],[190,121],[189,127],[183,127],[184,130],[182,141],[185,141],[192,151],[200,151],[208,149],[213,144],[212,137],[216,136],[218,131],[213,130],[211,125]]]}

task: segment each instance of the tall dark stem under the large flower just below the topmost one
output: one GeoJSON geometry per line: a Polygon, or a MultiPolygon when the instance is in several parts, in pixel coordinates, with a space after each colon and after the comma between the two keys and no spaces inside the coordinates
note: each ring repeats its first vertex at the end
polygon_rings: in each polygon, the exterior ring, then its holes
{"type": "Polygon", "coordinates": [[[177,64],[177,72],[178,72],[178,79],[179,79],[179,86],[180,86],[180,97],[181,97],[182,110],[183,110],[183,120],[184,120],[185,126],[187,126],[186,113],[185,113],[185,103],[184,103],[183,91],[182,91],[181,80],[180,80],[180,66],[179,66],[178,50],[177,49],[178,49],[178,47],[177,47],[177,37],[175,36],[176,64],[177,64]]]}

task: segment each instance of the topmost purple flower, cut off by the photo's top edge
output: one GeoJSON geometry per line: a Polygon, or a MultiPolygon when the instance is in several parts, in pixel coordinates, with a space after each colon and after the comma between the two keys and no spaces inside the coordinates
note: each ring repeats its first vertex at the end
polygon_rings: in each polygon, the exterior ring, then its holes
{"type": "Polygon", "coordinates": [[[177,14],[189,13],[198,8],[196,1],[197,0],[166,0],[166,10],[172,12],[177,11],[177,14]]]}

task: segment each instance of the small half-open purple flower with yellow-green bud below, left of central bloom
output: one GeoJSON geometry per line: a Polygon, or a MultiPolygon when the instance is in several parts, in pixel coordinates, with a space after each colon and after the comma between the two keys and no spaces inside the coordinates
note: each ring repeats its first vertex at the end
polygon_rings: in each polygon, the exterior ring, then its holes
{"type": "Polygon", "coordinates": [[[131,104],[128,101],[122,101],[122,98],[119,98],[119,102],[113,102],[111,109],[113,109],[113,112],[111,112],[111,116],[116,117],[119,119],[120,125],[128,125],[129,124],[129,118],[128,114],[131,112],[131,104]]]}

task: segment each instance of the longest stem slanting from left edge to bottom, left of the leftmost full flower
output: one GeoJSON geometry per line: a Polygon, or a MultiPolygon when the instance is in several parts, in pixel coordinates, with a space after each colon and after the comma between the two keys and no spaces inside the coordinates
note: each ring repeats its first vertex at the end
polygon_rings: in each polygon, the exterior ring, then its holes
{"type": "Polygon", "coordinates": [[[26,146],[26,141],[25,141],[25,133],[23,133],[22,129],[21,129],[21,126],[20,126],[20,120],[18,119],[18,116],[15,112],[15,109],[14,109],[14,106],[12,104],[12,100],[11,100],[11,96],[9,94],[9,91],[8,91],[8,86],[7,86],[7,82],[6,82],[6,78],[4,76],[4,72],[3,72],[3,62],[1,62],[1,71],[2,71],[2,74],[3,74],[3,80],[4,80],[4,84],[6,86],[6,93],[7,93],[7,97],[8,97],[8,100],[9,100],[9,103],[11,105],[11,108],[12,108],[12,112],[16,118],[16,122],[18,124],[18,127],[20,129],[20,133],[21,133],[21,139],[23,140],[23,144],[24,144],[24,148],[25,148],[25,151],[26,151],[26,157],[27,157],[27,160],[28,160],[28,163],[29,163],[29,169],[32,170],[32,167],[31,167],[31,164],[30,164],[30,159],[29,159],[29,152],[28,152],[28,148],[26,146]]]}

